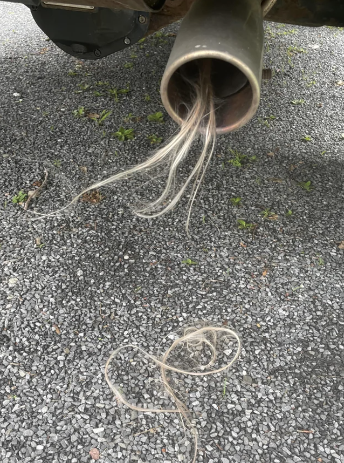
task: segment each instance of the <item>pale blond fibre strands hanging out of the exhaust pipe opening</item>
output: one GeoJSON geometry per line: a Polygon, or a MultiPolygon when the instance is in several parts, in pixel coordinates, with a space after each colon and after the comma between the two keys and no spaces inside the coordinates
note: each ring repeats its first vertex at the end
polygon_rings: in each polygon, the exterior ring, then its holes
{"type": "Polygon", "coordinates": [[[119,180],[128,179],[137,173],[151,172],[154,171],[155,168],[163,166],[167,168],[168,173],[166,185],[162,193],[154,201],[134,209],[134,212],[140,217],[159,217],[176,206],[177,202],[191,184],[186,220],[186,229],[188,232],[192,206],[214,152],[216,140],[215,102],[210,76],[211,60],[202,60],[199,64],[199,73],[194,79],[191,80],[187,77],[183,77],[187,80],[187,88],[189,89],[187,101],[183,105],[187,115],[179,132],[169,140],[165,147],[157,150],[146,161],[128,168],[123,172],[116,173],[106,180],[94,183],[75,196],[64,208],[50,214],[44,214],[44,216],[48,217],[65,211],[84,193],[90,190],[113,184],[119,180]],[[190,175],[182,185],[178,185],[178,168],[187,158],[193,142],[198,137],[202,138],[202,151],[190,175]],[[177,191],[175,189],[177,189],[177,191]]]}

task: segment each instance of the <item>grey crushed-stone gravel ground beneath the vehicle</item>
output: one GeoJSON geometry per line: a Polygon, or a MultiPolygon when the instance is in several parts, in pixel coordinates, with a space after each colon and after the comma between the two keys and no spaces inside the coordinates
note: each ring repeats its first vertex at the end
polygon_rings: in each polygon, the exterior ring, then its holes
{"type": "MultiPolygon", "coordinates": [[[[145,159],[148,135],[174,133],[158,86],[176,31],[79,62],[46,40],[27,8],[0,4],[3,463],[81,463],[91,449],[109,463],[189,461],[179,417],[121,408],[104,365],[121,343],[155,353],[195,320],[225,323],[243,341],[226,383],[176,383],[198,427],[198,462],[344,462],[344,85],[335,85],[344,80],[344,32],[266,24],[274,77],[251,123],[219,138],[191,240],[187,197],[156,220],[130,209],[163,178],[122,182],[100,202],[31,220],[145,159]],[[118,102],[104,90],[127,85],[118,102]],[[74,117],[81,106],[112,113],[97,127],[74,117]],[[147,121],[160,110],[164,124],[147,121]],[[130,112],[140,119],[124,122],[130,112]],[[120,126],[135,139],[111,136],[120,126]],[[246,155],[242,167],[227,162],[228,148],[246,155]],[[45,168],[47,188],[30,209],[13,204],[45,168]],[[300,186],[308,181],[311,191],[300,186]],[[254,233],[237,219],[257,224],[254,233]]],[[[154,369],[129,357],[114,377],[127,397],[166,405],[154,369]]]]}

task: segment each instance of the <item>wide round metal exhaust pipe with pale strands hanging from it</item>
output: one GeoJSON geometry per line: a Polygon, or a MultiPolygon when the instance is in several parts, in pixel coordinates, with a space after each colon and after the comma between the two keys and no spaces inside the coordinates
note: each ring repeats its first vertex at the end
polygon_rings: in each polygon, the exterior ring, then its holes
{"type": "Polygon", "coordinates": [[[186,14],[161,80],[161,99],[179,124],[190,103],[188,81],[211,60],[216,132],[244,126],[259,106],[263,67],[261,0],[195,0],[186,14]],[[220,101],[220,104],[217,104],[220,101]]]}

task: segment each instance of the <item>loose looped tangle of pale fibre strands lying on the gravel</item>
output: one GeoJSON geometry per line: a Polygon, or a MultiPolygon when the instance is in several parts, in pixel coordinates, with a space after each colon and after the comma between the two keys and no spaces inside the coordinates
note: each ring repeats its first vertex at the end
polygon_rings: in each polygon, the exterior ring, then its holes
{"type": "MultiPolygon", "coordinates": [[[[116,395],[118,401],[123,403],[132,410],[138,412],[150,413],[179,413],[181,419],[185,420],[187,428],[191,432],[194,440],[194,456],[192,463],[195,463],[197,457],[197,430],[190,418],[190,412],[185,403],[178,397],[178,391],[174,389],[173,382],[167,378],[167,372],[180,373],[182,375],[192,375],[196,377],[206,376],[209,374],[216,374],[228,370],[233,365],[240,354],[241,341],[238,334],[225,326],[215,326],[205,324],[204,322],[198,326],[190,326],[184,329],[182,337],[177,338],[166,352],[162,355],[161,359],[149,354],[144,349],[141,349],[136,344],[125,344],[112,352],[105,365],[105,379],[111,391],[116,395]],[[232,344],[235,345],[232,345],[232,344]],[[114,358],[123,350],[133,349],[136,352],[143,354],[145,357],[152,360],[158,367],[160,367],[161,381],[167,395],[176,404],[176,409],[149,409],[142,406],[135,406],[127,400],[121,388],[114,385],[109,379],[109,367],[114,358]],[[225,353],[226,360],[221,365],[218,360],[220,349],[225,353]],[[202,356],[202,353],[206,356],[202,356]],[[173,354],[176,355],[173,359],[173,354]],[[227,356],[231,356],[228,360],[227,356]],[[204,363],[199,364],[197,358],[201,357],[204,363]],[[182,362],[178,366],[178,362],[182,362]],[[185,366],[184,366],[185,365],[185,366]]],[[[184,423],[184,422],[183,422],[184,423]]]]}

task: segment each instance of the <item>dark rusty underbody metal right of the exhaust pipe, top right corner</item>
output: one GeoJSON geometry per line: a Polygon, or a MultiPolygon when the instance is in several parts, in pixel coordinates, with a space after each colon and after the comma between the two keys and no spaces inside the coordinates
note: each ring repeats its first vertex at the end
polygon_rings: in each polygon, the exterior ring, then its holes
{"type": "Polygon", "coordinates": [[[344,0],[277,0],[265,19],[302,26],[343,26],[344,0]]]}

